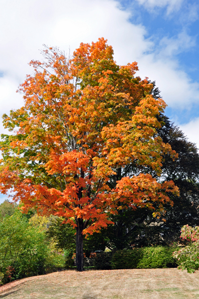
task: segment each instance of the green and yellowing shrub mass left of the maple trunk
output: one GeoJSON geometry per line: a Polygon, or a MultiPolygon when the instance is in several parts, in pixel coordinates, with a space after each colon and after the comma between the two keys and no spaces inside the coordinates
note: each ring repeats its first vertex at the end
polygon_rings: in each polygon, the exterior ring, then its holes
{"type": "Polygon", "coordinates": [[[4,212],[0,222],[1,284],[66,266],[64,252],[57,250],[56,244],[45,234],[50,219],[32,215],[32,212],[22,214],[17,205],[8,201],[0,205],[0,211],[4,212]]]}

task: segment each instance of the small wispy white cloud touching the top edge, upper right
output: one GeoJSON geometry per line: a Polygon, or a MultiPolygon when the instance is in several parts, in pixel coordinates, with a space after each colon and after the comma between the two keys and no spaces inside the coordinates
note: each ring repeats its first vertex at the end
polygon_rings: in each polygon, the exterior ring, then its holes
{"type": "Polygon", "coordinates": [[[167,6],[167,13],[174,10],[179,10],[184,0],[137,0],[140,4],[144,5],[147,9],[162,8],[167,6]]]}

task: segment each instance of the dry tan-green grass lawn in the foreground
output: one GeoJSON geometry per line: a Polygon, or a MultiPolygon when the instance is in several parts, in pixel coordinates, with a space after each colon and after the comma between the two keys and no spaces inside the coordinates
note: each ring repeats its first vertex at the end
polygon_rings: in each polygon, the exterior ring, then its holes
{"type": "Polygon", "coordinates": [[[62,271],[0,287],[5,299],[199,298],[199,272],[178,269],[62,271]]]}

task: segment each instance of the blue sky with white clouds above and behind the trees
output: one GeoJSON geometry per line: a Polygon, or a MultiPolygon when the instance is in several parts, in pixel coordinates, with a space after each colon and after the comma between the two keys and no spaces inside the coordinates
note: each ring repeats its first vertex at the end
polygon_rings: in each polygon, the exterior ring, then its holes
{"type": "Polygon", "coordinates": [[[119,65],[137,61],[156,81],[165,114],[199,148],[198,31],[195,0],[0,0],[0,116],[23,105],[16,90],[43,44],[72,53],[104,37],[119,65]]]}

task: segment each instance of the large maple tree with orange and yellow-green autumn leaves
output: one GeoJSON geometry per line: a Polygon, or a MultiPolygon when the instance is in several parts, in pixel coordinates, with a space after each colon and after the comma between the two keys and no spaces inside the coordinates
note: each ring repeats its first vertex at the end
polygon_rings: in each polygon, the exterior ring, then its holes
{"type": "Polygon", "coordinates": [[[162,156],[176,156],[157,136],[166,107],[150,95],[137,63],[118,66],[104,38],[81,43],[72,57],[46,47],[44,61],[20,85],[24,106],[3,116],[0,191],[12,191],[23,211],[64,217],[76,229],[76,265],[83,270],[83,234],[112,223],[108,213],[148,207],[154,216],[178,193],[173,181],[148,173],[108,184],[116,169],[134,162],[161,173],[162,156]]]}

